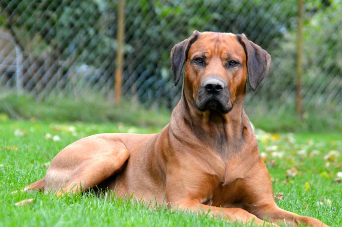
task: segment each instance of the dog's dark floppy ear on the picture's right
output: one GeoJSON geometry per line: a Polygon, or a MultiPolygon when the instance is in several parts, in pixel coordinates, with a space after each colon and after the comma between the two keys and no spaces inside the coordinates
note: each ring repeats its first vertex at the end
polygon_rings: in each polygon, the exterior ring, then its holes
{"type": "Polygon", "coordinates": [[[255,91],[268,72],[271,55],[257,44],[249,41],[245,34],[237,35],[237,39],[245,49],[249,85],[255,91]]]}

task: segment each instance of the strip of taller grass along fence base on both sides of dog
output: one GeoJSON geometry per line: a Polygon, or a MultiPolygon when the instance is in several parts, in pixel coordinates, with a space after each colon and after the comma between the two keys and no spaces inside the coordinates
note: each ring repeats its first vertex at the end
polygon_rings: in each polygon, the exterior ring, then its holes
{"type": "MultiPolygon", "coordinates": [[[[279,103],[275,104],[278,106],[279,103]]],[[[245,111],[257,128],[266,131],[342,131],[341,107],[331,111],[306,108],[304,119],[295,114],[294,107],[278,111],[272,104],[259,101],[258,105],[245,105],[245,111]],[[273,109],[270,111],[269,109],[273,109]],[[278,111],[278,112],[277,112],[278,111]]],[[[38,119],[46,122],[92,122],[117,123],[141,126],[163,127],[170,119],[171,112],[167,108],[154,107],[146,109],[134,101],[123,100],[120,105],[96,94],[85,97],[49,96],[41,101],[29,94],[17,93],[13,90],[2,90],[0,94],[0,118],[38,119]]]]}

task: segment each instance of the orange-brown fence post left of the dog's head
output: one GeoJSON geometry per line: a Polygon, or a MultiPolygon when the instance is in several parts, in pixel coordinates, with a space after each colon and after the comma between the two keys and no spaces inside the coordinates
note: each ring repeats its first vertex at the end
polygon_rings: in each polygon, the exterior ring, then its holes
{"type": "Polygon", "coordinates": [[[118,9],[117,54],[115,70],[115,101],[120,104],[123,74],[123,37],[124,37],[124,8],[125,0],[120,0],[118,9]]]}

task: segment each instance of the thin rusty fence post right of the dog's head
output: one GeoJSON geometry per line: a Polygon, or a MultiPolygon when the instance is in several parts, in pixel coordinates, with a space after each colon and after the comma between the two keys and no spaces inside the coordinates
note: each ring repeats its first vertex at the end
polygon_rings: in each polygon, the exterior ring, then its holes
{"type": "Polygon", "coordinates": [[[303,119],[302,110],[302,55],[303,55],[303,0],[298,0],[298,31],[297,31],[297,98],[296,110],[300,119],[303,119]]]}

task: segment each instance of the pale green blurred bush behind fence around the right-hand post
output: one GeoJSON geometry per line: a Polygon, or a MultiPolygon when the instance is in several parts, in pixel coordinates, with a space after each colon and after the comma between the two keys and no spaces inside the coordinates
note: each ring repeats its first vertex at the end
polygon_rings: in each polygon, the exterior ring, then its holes
{"type": "MultiPolygon", "coordinates": [[[[325,128],[334,128],[341,122],[342,33],[338,28],[342,24],[341,13],[342,6],[338,1],[306,1],[304,4],[301,95],[304,118],[311,121],[309,125],[313,127],[318,121],[325,122],[325,128]]],[[[277,48],[269,51],[272,65],[255,97],[263,100],[266,109],[274,111],[278,117],[292,115],[295,119],[297,22],[277,43],[277,48]],[[283,111],[276,113],[275,109],[283,111]]],[[[253,97],[248,94],[248,105],[252,104],[253,97]]],[[[311,126],[307,128],[311,129],[311,126]]]]}

